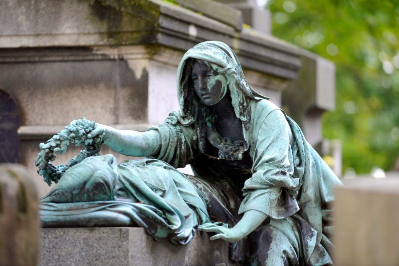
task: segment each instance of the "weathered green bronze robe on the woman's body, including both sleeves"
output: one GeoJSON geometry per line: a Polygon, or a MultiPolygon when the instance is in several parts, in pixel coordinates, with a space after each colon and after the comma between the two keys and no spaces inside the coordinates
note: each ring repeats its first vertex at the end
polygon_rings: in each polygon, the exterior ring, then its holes
{"type": "MultiPolygon", "coordinates": [[[[341,181],[280,108],[257,98],[250,101],[250,110],[250,127],[242,130],[252,166],[250,174],[241,177],[246,181],[238,215],[257,210],[270,217],[252,234],[252,260],[266,265],[332,264],[331,204],[333,187],[341,181]]],[[[198,130],[179,120],[179,113],[172,113],[163,124],[150,129],[157,130],[166,144],[155,157],[176,168],[191,163],[197,175],[205,180],[210,177],[214,183],[228,180],[228,170],[217,167],[218,158],[214,164],[198,162],[206,153],[199,149],[198,130]]],[[[234,176],[237,180],[228,181],[241,183],[240,177],[234,176]]]]}

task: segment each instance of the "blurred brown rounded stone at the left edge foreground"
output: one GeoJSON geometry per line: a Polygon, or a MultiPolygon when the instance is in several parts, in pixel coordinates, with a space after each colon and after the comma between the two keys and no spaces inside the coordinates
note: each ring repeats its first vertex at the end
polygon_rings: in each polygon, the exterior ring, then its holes
{"type": "Polygon", "coordinates": [[[38,201],[25,168],[0,164],[0,265],[36,265],[38,201]]]}

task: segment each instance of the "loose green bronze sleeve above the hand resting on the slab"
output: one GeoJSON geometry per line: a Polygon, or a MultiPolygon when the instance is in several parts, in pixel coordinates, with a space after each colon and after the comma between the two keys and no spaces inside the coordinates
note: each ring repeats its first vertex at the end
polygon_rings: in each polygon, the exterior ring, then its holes
{"type": "Polygon", "coordinates": [[[299,210],[294,195],[301,186],[301,180],[292,177],[291,129],[280,109],[258,119],[253,129],[252,176],[245,181],[239,214],[257,210],[274,219],[285,218],[299,210]]]}

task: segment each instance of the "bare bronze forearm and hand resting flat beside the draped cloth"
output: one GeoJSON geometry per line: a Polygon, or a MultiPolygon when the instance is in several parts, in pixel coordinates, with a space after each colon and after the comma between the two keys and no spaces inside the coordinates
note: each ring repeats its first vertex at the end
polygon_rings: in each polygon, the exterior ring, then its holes
{"type": "Polygon", "coordinates": [[[210,240],[222,239],[230,243],[236,243],[248,236],[260,226],[266,218],[267,215],[260,211],[249,210],[244,213],[241,220],[233,228],[225,228],[212,223],[206,223],[200,225],[198,230],[216,233],[210,240]]]}

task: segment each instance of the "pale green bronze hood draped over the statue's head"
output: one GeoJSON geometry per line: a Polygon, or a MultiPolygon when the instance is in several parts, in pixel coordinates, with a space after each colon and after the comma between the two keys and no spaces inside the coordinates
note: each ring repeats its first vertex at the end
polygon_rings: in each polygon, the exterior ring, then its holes
{"type": "Polygon", "coordinates": [[[250,120],[249,99],[269,98],[256,93],[248,86],[237,56],[227,44],[221,41],[201,42],[188,50],[180,61],[177,73],[178,99],[180,115],[186,121],[185,124],[194,122],[199,104],[195,97],[190,96],[193,93],[193,88],[188,87],[190,77],[185,77],[186,63],[189,58],[206,61],[215,71],[226,76],[235,115],[248,129],[250,120]],[[192,108],[187,108],[191,104],[192,108]]]}

